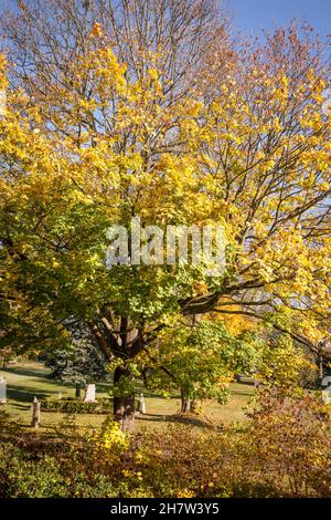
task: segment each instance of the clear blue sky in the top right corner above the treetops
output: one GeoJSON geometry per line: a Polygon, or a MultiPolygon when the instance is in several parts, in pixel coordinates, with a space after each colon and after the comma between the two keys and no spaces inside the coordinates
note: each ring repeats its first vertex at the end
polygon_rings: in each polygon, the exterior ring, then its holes
{"type": "Polygon", "coordinates": [[[331,34],[331,0],[223,0],[233,21],[246,34],[287,25],[292,18],[307,21],[324,39],[331,34]]]}

